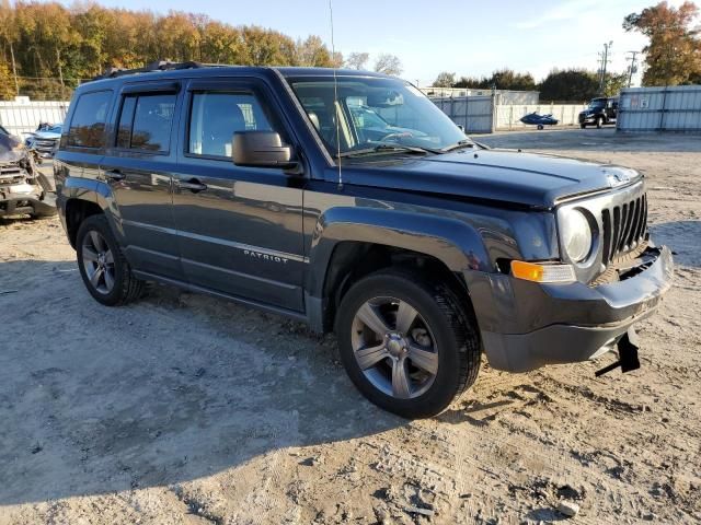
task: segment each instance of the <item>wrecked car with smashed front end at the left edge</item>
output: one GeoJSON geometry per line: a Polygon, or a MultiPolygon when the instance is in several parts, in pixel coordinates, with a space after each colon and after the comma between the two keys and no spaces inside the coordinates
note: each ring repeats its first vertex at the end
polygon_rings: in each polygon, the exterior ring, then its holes
{"type": "Polygon", "coordinates": [[[56,214],[55,195],[34,155],[16,137],[0,132],[0,217],[56,214]]]}

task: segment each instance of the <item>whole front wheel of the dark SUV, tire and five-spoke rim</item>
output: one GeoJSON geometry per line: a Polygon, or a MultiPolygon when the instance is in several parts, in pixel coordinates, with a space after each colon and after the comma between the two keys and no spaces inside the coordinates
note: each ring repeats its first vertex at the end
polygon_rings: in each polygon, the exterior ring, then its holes
{"type": "Polygon", "coordinates": [[[440,413],[480,370],[476,327],[458,298],[414,273],[382,271],[354,284],[336,335],[357,388],[405,418],[440,413]]]}

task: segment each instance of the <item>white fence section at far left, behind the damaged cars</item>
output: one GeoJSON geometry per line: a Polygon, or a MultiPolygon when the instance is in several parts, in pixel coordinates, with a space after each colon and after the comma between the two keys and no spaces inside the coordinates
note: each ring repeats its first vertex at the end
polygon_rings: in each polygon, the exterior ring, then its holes
{"type": "Polygon", "coordinates": [[[62,122],[69,104],[18,96],[11,102],[0,102],[0,125],[12,135],[22,137],[24,132],[34,131],[39,122],[62,122]]]}

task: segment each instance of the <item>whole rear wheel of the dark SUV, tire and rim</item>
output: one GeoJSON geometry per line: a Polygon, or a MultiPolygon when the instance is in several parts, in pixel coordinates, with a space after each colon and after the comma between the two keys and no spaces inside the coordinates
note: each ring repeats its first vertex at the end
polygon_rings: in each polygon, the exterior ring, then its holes
{"type": "Polygon", "coordinates": [[[97,302],[117,306],[141,295],[143,281],[131,273],[105,215],[91,215],[82,222],[76,247],[80,276],[97,302]]]}

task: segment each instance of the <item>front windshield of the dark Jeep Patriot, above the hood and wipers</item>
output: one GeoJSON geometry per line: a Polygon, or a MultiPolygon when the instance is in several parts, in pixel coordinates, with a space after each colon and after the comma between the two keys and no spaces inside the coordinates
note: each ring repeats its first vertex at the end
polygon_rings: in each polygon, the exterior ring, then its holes
{"type": "Polygon", "coordinates": [[[335,90],[329,77],[289,82],[332,156],[374,148],[435,152],[467,139],[421,91],[399,79],[338,77],[335,90]]]}

